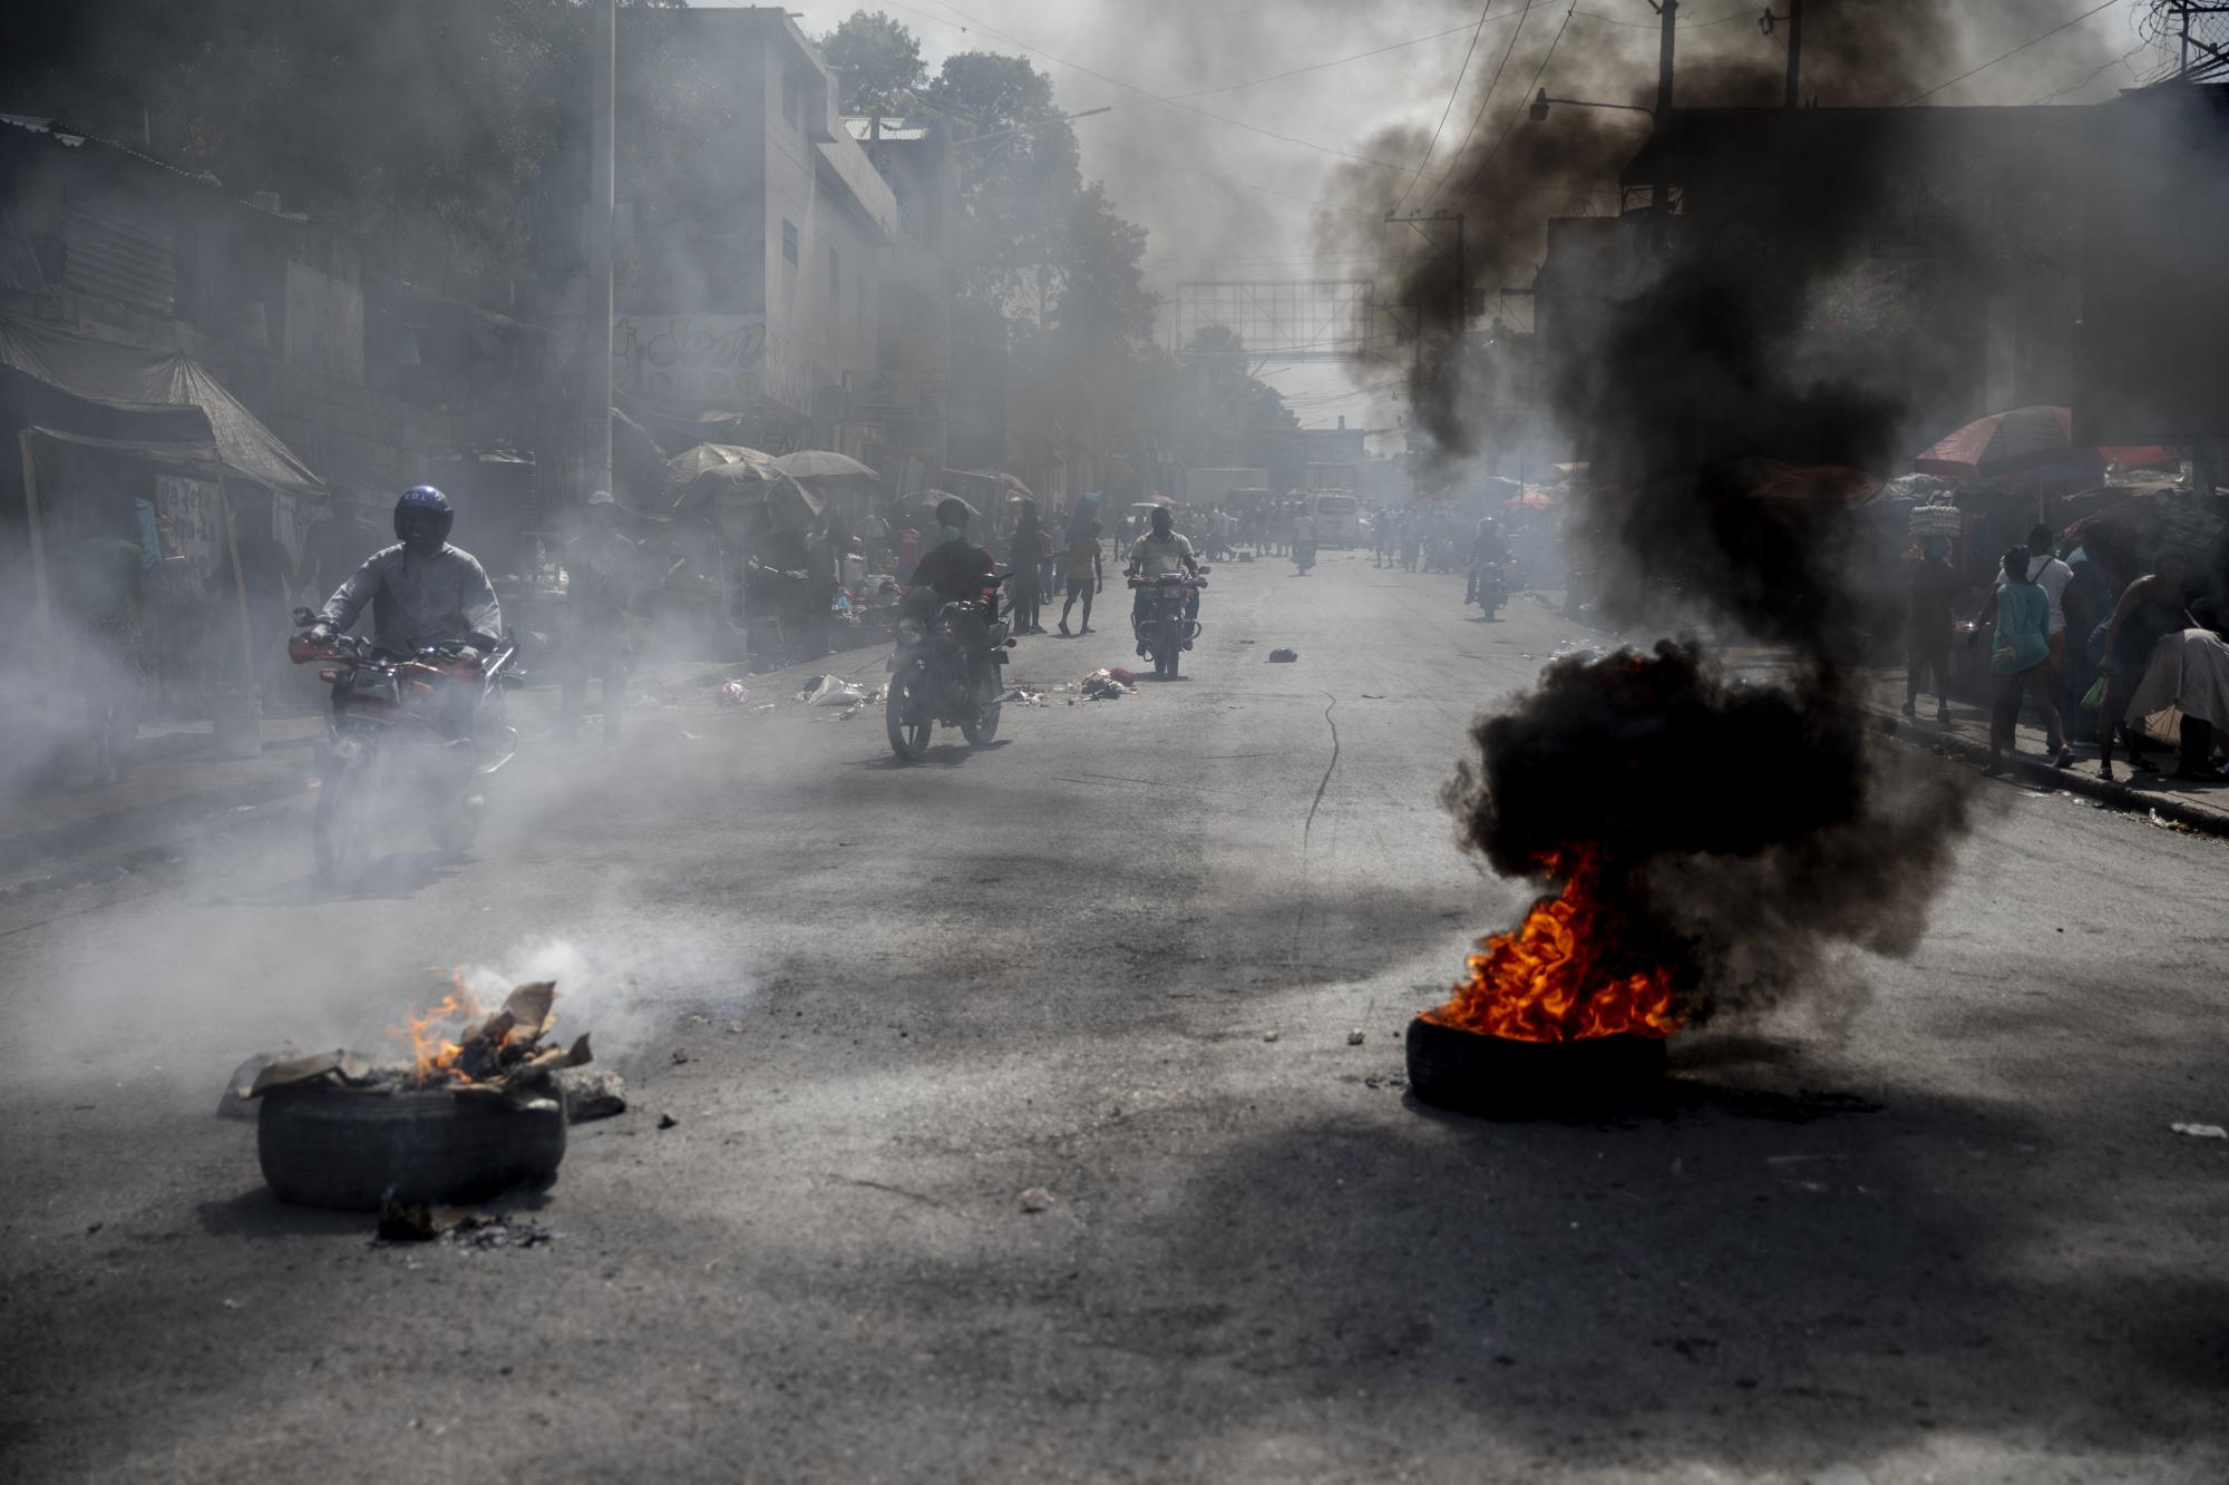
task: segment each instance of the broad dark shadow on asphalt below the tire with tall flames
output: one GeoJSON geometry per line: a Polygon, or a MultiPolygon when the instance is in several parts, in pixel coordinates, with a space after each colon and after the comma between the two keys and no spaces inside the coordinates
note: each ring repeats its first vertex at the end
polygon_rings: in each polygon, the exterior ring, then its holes
{"type": "Polygon", "coordinates": [[[2035,1137],[2019,1115],[1759,1081],[1678,1077],[1616,1126],[1418,1108],[1391,1135],[1264,1128],[1195,1168],[1135,1298],[1204,1318],[1110,1320],[1090,1342],[1213,1356],[1250,1378],[1255,1414],[1340,1398],[1362,1447],[1342,1463],[1482,1438],[1534,1465],[1748,1478],[1935,1436],[2104,1454],[2229,1436],[2229,1282],[2026,1262],[2057,1233],[2035,1231],[2046,1162],[2008,1155],[2035,1137]]]}

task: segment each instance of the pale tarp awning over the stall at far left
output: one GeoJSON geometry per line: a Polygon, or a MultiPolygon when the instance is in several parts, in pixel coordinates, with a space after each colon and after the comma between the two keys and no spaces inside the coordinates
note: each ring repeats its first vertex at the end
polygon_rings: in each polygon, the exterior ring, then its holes
{"type": "Polygon", "coordinates": [[[0,317],[0,366],[125,412],[198,408],[225,468],[283,491],[325,493],[310,466],[185,352],[118,346],[0,317]]]}

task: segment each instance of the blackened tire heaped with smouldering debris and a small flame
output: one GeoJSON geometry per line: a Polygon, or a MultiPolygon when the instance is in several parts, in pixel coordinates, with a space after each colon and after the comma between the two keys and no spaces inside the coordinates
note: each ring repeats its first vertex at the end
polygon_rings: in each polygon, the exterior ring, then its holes
{"type": "Polygon", "coordinates": [[[502,1097],[274,1088],[256,1119],[263,1180],[283,1202],[372,1211],[379,1200],[475,1202],[546,1182],[564,1159],[564,1108],[502,1097]]]}

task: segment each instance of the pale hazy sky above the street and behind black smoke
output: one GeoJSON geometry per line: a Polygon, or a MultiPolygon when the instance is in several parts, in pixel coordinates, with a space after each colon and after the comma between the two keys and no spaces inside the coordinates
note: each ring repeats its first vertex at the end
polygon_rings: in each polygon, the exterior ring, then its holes
{"type": "MultiPolygon", "coordinates": [[[[1805,47],[1830,45],[1837,22],[1866,4],[1808,0],[1805,47]]],[[[1912,91],[1948,82],[1926,105],[2075,105],[2144,80],[2158,56],[2135,29],[2142,0],[2084,18],[2093,4],[1946,0],[1955,42],[1912,91]]],[[[820,36],[854,9],[856,0],[800,0],[791,13],[820,36]]],[[[932,71],[952,51],[1021,51],[1070,111],[1112,107],[1074,125],[1083,169],[1148,230],[1146,272],[1164,297],[1199,279],[1393,283],[1402,254],[1429,245],[1415,230],[1386,227],[1364,187],[1391,183],[1393,196],[1409,190],[1411,205],[1429,203],[1460,140],[1485,147],[1507,129],[1554,127],[1525,120],[1536,78],[1554,96],[1647,100],[1656,71],[1647,0],[878,0],[865,9],[912,29],[932,71]]],[[[1763,36],[1761,9],[1761,0],[1685,0],[1681,56],[1701,65],[1754,51],[1779,65],[1785,31],[1763,36]]],[[[1632,120],[1638,145],[1647,120],[1632,120]]],[[[1346,415],[1391,428],[1402,417],[1391,363],[1268,363],[1262,375],[1304,424],[1346,415]]]]}

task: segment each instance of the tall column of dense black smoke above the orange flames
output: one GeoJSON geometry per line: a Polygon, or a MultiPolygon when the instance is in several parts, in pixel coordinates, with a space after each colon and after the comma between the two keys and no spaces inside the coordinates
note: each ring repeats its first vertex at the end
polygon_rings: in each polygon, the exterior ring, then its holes
{"type": "MultiPolygon", "coordinates": [[[[1846,36],[1859,49],[1821,49],[1814,76],[1892,96],[1895,65],[1915,38],[1926,54],[1944,7],[1870,9],[1895,13],[1897,47],[1846,36]]],[[[1683,71],[1683,103],[1752,103],[1772,82],[1759,67],[1683,71]]],[[[1670,959],[1694,1019],[1819,990],[1848,1003],[1848,950],[1917,945],[1973,816],[1968,778],[1870,736],[1855,680],[1892,633],[1895,595],[1857,573],[1846,475],[1890,473],[1926,377],[1881,341],[1826,332],[1819,305],[1863,256],[1868,223],[1926,174],[1928,120],[1901,118],[1752,116],[1745,190],[1763,183],[1770,230],[1736,241],[1685,210],[1625,216],[1609,303],[1538,348],[1542,417],[1592,464],[1574,560],[1596,566],[1600,613],[1656,633],[1674,615],[1703,622],[1785,664],[1743,682],[1692,638],[1549,664],[1476,722],[1478,765],[1447,800],[1496,872],[1560,879],[1594,856],[1616,919],[1670,959]]],[[[1616,178],[1600,125],[1574,129],[1569,156],[1549,138],[1516,161],[1529,174],[1496,156],[1464,210],[1616,178]]],[[[1418,301],[1438,272],[1411,285],[1418,301]]],[[[1444,366],[1415,401],[1456,453],[1491,426],[1444,366]]]]}

